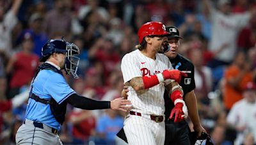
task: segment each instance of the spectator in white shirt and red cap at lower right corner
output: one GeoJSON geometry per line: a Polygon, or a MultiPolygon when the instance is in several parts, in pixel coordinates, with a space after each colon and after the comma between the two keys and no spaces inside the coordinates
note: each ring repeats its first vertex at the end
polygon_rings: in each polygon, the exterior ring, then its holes
{"type": "Polygon", "coordinates": [[[252,132],[253,139],[256,139],[255,114],[256,84],[248,82],[243,89],[243,99],[234,104],[227,116],[227,123],[236,128],[238,133],[235,144],[242,144],[249,132],[252,132]]]}

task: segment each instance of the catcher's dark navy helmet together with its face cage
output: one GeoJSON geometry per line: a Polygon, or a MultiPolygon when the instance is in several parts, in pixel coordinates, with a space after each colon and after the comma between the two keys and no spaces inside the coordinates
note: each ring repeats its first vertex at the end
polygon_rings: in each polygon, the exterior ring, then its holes
{"type": "Polygon", "coordinates": [[[79,48],[73,43],[68,43],[63,39],[51,39],[45,43],[42,47],[42,57],[40,62],[45,62],[52,53],[64,53],[65,59],[65,71],[67,74],[72,74],[74,78],[78,78],[77,66],[79,64],[79,48]]]}

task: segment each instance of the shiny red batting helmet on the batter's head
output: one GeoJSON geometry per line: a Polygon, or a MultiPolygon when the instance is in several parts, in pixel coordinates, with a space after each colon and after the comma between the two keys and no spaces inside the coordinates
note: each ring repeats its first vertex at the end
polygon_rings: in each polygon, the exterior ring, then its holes
{"type": "Polygon", "coordinates": [[[153,35],[167,35],[169,32],[165,31],[165,25],[161,22],[147,22],[143,24],[139,31],[139,43],[145,38],[145,36],[153,36],[153,35]]]}

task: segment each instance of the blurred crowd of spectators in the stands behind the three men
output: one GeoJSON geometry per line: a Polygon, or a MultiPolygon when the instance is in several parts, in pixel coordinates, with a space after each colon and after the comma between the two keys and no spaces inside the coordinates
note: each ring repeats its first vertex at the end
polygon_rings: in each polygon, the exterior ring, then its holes
{"type": "MultiPolygon", "coordinates": [[[[120,60],[149,21],[184,38],[179,50],[195,65],[200,120],[214,144],[255,144],[255,0],[0,0],[0,144],[15,144],[27,102],[11,100],[28,90],[48,39],[79,47],[79,79],[65,76],[77,93],[112,100],[123,88],[120,60]]],[[[64,144],[122,144],[124,113],[68,106],[66,116],[64,144]]]]}

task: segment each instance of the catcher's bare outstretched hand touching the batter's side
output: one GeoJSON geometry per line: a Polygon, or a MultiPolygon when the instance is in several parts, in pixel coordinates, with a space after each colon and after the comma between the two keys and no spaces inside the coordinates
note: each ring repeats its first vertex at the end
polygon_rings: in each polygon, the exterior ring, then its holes
{"type": "Polygon", "coordinates": [[[131,101],[124,99],[124,98],[116,98],[114,100],[111,100],[110,102],[110,109],[113,110],[121,110],[121,111],[127,111],[127,109],[130,109],[131,101]],[[130,105],[130,106],[129,106],[130,105]]]}

